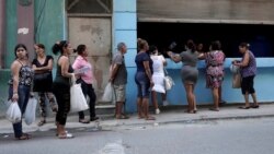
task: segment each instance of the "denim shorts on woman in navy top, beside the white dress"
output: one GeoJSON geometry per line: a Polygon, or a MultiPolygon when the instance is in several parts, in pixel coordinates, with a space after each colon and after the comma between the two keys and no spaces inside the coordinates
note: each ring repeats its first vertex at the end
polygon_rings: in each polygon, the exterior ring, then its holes
{"type": "Polygon", "coordinates": [[[137,96],[140,98],[149,98],[150,81],[145,72],[137,72],[135,74],[135,82],[137,84],[137,96]]]}

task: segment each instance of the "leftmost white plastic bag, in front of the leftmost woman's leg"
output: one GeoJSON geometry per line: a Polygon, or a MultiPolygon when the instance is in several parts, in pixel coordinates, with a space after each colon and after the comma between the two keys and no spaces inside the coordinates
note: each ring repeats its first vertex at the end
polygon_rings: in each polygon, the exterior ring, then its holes
{"type": "Polygon", "coordinates": [[[10,106],[5,112],[5,117],[12,123],[18,123],[21,121],[22,114],[19,108],[18,102],[9,102],[10,106]]]}

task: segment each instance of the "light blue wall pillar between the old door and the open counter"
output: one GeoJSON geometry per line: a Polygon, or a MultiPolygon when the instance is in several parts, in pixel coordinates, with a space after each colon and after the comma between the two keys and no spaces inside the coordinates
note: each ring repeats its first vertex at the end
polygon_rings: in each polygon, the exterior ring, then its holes
{"type": "Polygon", "coordinates": [[[127,54],[125,56],[126,66],[128,69],[128,85],[127,85],[127,103],[128,111],[136,110],[136,85],[134,82],[135,62],[137,44],[137,14],[136,0],[113,0],[113,52],[116,51],[116,46],[119,42],[127,45],[127,54]]]}

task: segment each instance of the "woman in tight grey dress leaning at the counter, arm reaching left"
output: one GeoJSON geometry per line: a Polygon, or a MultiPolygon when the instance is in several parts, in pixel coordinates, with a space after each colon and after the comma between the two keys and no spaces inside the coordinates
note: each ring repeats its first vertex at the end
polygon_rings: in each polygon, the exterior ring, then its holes
{"type": "Polygon", "coordinates": [[[186,91],[186,98],[189,103],[187,112],[196,114],[197,108],[194,90],[198,79],[197,61],[199,54],[196,51],[193,40],[187,40],[185,48],[186,51],[182,51],[180,55],[168,51],[168,56],[176,63],[180,61],[183,62],[181,76],[186,91]]]}

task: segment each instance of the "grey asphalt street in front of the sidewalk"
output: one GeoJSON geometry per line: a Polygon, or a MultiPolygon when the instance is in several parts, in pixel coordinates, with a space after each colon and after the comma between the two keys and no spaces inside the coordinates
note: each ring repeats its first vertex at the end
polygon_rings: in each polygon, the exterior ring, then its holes
{"type": "Polygon", "coordinates": [[[272,154],[273,118],[76,128],[76,138],[33,132],[27,141],[1,134],[1,154],[272,154]]]}

